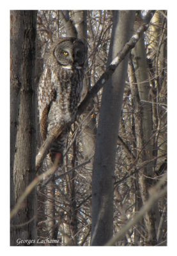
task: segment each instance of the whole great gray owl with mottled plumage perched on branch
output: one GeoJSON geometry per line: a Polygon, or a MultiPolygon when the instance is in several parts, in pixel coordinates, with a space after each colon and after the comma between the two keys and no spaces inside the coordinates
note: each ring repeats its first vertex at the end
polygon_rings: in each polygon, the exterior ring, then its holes
{"type": "MultiPolygon", "coordinates": [[[[38,87],[40,130],[45,140],[56,126],[72,124],[81,99],[84,77],[85,46],[77,38],[61,38],[45,54],[43,73],[38,87]]],[[[57,153],[65,149],[66,131],[63,131],[50,148],[54,161],[57,153]]]]}

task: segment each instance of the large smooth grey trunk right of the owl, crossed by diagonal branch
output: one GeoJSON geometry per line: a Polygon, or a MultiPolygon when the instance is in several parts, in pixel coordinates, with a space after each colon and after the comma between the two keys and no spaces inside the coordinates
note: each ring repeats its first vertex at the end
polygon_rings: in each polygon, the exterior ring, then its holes
{"type": "MultiPolygon", "coordinates": [[[[114,11],[111,48],[112,60],[132,35],[134,11],[114,11]]],[[[104,245],[113,230],[113,179],[123,90],[128,56],[105,84],[100,108],[92,179],[92,245],[104,245]]]]}

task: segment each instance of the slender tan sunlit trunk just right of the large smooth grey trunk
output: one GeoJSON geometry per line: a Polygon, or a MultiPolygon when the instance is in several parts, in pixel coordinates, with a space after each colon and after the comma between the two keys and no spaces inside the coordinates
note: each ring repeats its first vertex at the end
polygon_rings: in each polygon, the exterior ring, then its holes
{"type": "MultiPolygon", "coordinates": [[[[140,21],[141,22],[141,21],[140,21]]],[[[137,22],[137,27],[139,22],[137,22]]],[[[135,30],[137,29],[135,26],[135,30]]],[[[132,92],[137,90],[139,106],[136,106],[135,118],[135,132],[136,132],[136,142],[137,142],[137,154],[139,154],[138,163],[141,164],[145,161],[150,161],[153,157],[153,116],[152,116],[152,105],[150,103],[150,82],[148,74],[148,65],[146,59],[146,49],[144,36],[132,49],[132,54],[134,56],[134,67],[135,67],[135,77],[137,88],[132,88],[132,92]],[[138,111],[137,111],[138,110],[138,111]]],[[[139,172],[139,190],[141,193],[142,202],[145,204],[148,200],[148,189],[153,184],[153,162],[144,164],[139,172]]],[[[155,212],[158,213],[158,207],[153,207],[144,216],[144,223],[146,226],[146,243],[147,245],[156,244],[156,232],[155,232],[155,212]]]]}

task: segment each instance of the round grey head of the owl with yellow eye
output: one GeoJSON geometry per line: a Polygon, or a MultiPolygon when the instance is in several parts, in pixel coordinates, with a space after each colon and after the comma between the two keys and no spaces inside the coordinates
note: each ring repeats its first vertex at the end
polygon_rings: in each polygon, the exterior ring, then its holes
{"type": "Polygon", "coordinates": [[[84,66],[85,45],[77,38],[62,38],[52,47],[53,56],[63,68],[84,66]]]}

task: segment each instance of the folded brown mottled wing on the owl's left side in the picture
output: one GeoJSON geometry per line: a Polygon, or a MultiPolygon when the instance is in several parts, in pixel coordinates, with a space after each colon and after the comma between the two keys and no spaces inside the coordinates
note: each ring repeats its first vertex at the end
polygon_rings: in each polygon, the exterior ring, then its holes
{"type": "Polygon", "coordinates": [[[38,108],[40,114],[40,130],[43,141],[47,138],[48,114],[52,101],[56,99],[56,90],[51,80],[51,72],[44,68],[38,87],[38,108]]]}

